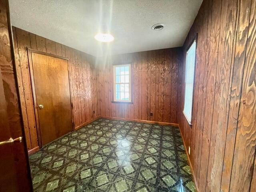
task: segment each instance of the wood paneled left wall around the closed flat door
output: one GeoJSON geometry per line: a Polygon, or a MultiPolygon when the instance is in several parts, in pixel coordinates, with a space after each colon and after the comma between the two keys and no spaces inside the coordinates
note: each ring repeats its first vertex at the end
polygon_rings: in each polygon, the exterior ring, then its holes
{"type": "Polygon", "coordinates": [[[75,128],[90,122],[99,115],[98,71],[94,67],[94,56],[41,36],[12,27],[18,86],[22,104],[22,116],[28,150],[38,146],[34,103],[28,68],[27,48],[69,58],[71,69],[73,113],[75,128]],[[95,112],[95,113],[94,113],[95,112]]]}

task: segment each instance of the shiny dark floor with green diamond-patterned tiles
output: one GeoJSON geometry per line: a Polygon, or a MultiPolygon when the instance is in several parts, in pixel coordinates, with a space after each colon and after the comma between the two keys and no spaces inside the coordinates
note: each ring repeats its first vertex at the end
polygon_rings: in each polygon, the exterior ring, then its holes
{"type": "Polygon", "coordinates": [[[34,192],[196,191],[172,126],[100,118],[29,159],[34,192]]]}

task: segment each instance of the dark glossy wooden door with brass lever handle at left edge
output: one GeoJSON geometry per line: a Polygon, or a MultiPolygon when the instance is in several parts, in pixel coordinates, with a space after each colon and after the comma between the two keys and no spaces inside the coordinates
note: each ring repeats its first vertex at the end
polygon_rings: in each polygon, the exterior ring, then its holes
{"type": "Polygon", "coordinates": [[[0,1],[0,26],[0,191],[29,192],[32,182],[14,71],[8,0],[0,1]]]}

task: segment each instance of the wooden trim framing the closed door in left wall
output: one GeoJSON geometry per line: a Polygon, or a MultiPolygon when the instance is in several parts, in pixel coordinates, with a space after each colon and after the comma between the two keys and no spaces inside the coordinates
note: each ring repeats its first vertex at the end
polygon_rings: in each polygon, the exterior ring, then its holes
{"type": "Polygon", "coordinates": [[[37,51],[37,50],[31,49],[31,48],[28,48],[28,47],[27,47],[27,52],[28,52],[28,67],[29,67],[30,81],[31,81],[31,87],[32,87],[32,96],[33,96],[33,102],[34,102],[34,113],[35,113],[35,117],[36,117],[36,130],[37,130],[37,137],[38,137],[38,146],[39,146],[39,148],[42,148],[41,130],[40,130],[40,124],[39,124],[39,119],[38,119],[38,108],[36,107],[37,106],[36,87],[35,87],[35,83],[34,83],[34,70],[33,70],[31,54],[32,53],[42,54],[42,55],[45,55],[45,56],[64,59],[68,62],[68,84],[69,84],[69,90],[70,90],[72,130],[74,131],[75,130],[75,126],[74,126],[74,107],[73,107],[74,105],[73,105],[73,95],[72,95],[73,87],[72,87],[72,83],[70,82],[71,77],[72,77],[71,72],[70,72],[70,59],[66,58],[66,57],[62,57],[62,56],[48,54],[48,53],[42,52],[42,51],[37,51]]]}

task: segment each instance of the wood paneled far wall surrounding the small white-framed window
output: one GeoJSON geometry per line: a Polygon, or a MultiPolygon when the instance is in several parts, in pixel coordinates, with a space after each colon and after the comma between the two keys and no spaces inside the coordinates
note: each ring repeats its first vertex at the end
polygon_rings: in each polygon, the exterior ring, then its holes
{"type": "Polygon", "coordinates": [[[176,123],[179,53],[172,48],[98,58],[100,116],[176,123]],[[133,103],[113,103],[112,65],[127,62],[133,103]]]}

